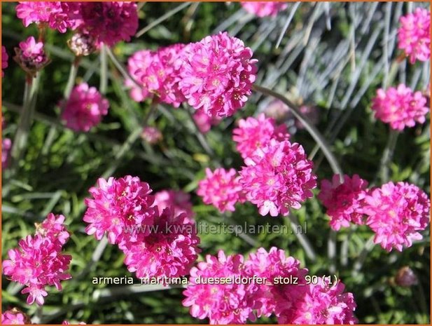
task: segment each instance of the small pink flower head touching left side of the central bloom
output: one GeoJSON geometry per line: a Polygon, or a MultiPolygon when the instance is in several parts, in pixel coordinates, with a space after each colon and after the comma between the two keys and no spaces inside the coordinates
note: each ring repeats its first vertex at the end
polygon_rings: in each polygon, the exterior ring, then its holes
{"type": "Polygon", "coordinates": [[[205,172],[206,178],[198,184],[198,196],[202,196],[204,203],[214,205],[220,212],[234,212],[234,205],[244,202],[237,172],[223,168],[217,168],[214,172],[207,168],[205,172]]]}

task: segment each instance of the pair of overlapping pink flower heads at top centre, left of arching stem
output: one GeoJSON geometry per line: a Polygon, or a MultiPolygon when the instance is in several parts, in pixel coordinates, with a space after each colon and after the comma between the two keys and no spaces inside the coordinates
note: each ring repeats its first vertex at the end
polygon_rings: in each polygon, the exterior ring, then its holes
{"type": "Polygon", "coordinates": [[[252,50],[226,32],[197,43],[175,44],[157,51],[140,50],[128,60],[127,80],[136,101],[156,95],[174,107],[188,101],[211,117],[232,116],[244,106],[256,79],[252,50]]]}

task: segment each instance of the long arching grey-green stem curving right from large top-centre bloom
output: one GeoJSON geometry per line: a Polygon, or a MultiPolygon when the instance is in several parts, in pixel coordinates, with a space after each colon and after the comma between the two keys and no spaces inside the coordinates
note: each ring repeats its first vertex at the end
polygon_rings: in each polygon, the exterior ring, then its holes
{"type": "Polygon", "coordinates": [[[295,104],[293,104],[290,100],[288,100],[286,97],[284,97],[284,95],[281,95],[277,92],[274,92],[273,90],[270,90],[268,88],[258,86],[258,85],[253,85],[252,88],[253,88],[253,90],[256,90],[257,92],[260,92],[260,93],[263,93],[265,95],[269,95],[272,97],[276,97],[278,100],[281,100],[282,102],[284,102],[291,109],[295,118],[298,118],[298,120],[302,123],[302,125],[305,126],[305,128],[309,132],[309,134],[314,138],[316,143],[319,144],[319,147],[321,147],[324,155],[327,158],[328,163],[330,163],[330,166],[331,166],[333,172],[335,174],[343,177],[344,174],[342,172],[342,168],[340,168],[340,165],[337,162],[337,159],[335,158],[333,153],[330,151],[330,145],[327,143],[327,141],[323,137],[323,135],[321,135],[319,130],[317,130],[315,128],[313,123],[311,123],[309,121],[309,119],[300,112],[300,110],[298,109],[298,107],[295,106],[295,104]]]}

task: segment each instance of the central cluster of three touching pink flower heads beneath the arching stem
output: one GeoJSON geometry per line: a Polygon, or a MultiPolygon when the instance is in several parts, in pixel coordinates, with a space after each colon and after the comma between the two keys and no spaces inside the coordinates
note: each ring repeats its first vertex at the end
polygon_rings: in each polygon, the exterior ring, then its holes
{"type": "Polygon", "coordinates": [[[232,139],[244,158],[239,177],[219,168],[214,173],[206,170],[197,191],[204,203],[212,204],[221,212],[234,211],[234,205],[250,201],[258,206],[260,215],[288,215],[298,209],[307,198],[312,198],[316,187],[313,163],[307,159],[300,144],[288,141],[285,125],[275,125],[273,118],[249,117],[239,121],[232,139]]]}

